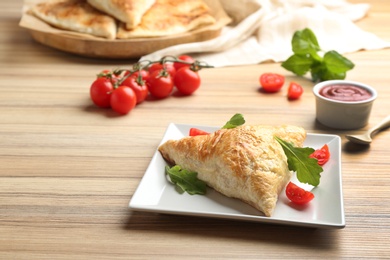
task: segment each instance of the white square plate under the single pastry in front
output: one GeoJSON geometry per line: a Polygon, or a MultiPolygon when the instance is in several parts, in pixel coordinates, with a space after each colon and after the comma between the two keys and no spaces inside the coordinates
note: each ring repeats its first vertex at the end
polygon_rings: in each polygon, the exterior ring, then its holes
{"type": "MultiPolygon", "coordinates": [[[[161,143],[169,139],[188,136],[189,129],[213,132],[216,127],[170,124],[161,143]]],[[[314,149],[328,144],[330,160],[324,165],[321,182],[312,189],[315,198],[307,205],[297,206],[286,197],[285,191],[279,196],[272,217],[265,217],[261,212],[237,199],[228,198],[211,188],[206,195],[179,194],[165,176],[167,163],[156,151],[145,175],[135,191],[129,207],[139,211],[168,214],[217,217],[245,221],[257,221],[271,224],[285,224],[318,228],[345,227],[342,178],[341,178],[341,140],[336,135],[308,134],[304,146],[314,149]]],[[[295,175],[292,181],[297,182],[295,175]]],[[[305,186],[306,189],[312,187],[305,186]]]]}

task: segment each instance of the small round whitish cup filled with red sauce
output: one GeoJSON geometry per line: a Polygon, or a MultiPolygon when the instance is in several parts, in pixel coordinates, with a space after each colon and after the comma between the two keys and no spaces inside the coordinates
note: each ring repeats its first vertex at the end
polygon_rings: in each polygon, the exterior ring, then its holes
{"type": "Polygon", "coordinates": [[[313,88],[316,118],[335,129],[359,129],[367,125],[376,90],[348,80],[328,80],[313,88]]]}

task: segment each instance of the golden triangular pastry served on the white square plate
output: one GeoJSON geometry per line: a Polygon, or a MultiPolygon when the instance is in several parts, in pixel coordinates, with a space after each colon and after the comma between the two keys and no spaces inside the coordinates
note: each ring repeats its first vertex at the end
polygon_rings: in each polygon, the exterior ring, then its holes
{"type": "Polygon", "coordinates": [[[158,150],[168,163],[197,172],[208,186],[270,217],[291,178],[286,155],[274,136],[302,147],[306,131],[291,125],[244,125],[168,140],[158,150]]]}

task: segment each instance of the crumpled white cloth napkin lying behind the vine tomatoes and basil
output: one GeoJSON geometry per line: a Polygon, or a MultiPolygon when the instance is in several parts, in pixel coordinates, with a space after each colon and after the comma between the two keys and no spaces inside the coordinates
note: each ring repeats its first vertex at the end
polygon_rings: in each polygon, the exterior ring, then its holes
{"type": "Polygon", "coordinates": [[[344,0],[220,0],[234,23],[219,37],[171,46],[141,57],[158,60],[165,55],[191,54],[215,67],[281,62],[292,55],[295,31],[310,28],[322,50],[341,54],[390,47],[390,42],[361,30],[368,4],[344,0]]]}

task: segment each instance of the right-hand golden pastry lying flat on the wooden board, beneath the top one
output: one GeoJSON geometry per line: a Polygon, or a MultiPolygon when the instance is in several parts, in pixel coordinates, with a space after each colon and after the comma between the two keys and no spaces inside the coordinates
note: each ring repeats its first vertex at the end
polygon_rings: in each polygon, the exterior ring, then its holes
{"type": "Polygon", "coordinates": [[[202,0],[156,0],[137,27],[129,30],[122,24],[117,38],[167,36],[215,22],[208,6],[202,0]]]}

